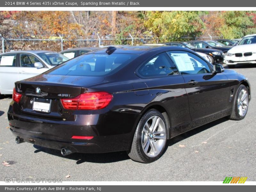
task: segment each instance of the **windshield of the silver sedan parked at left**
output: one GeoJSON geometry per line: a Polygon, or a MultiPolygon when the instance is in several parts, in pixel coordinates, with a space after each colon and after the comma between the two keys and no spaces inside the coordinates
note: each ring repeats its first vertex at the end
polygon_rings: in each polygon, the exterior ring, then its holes
{"type": "Polygon", "coordinates": [[[69,60],[68,57],[57,52],[44,52],[38,53],[38,55],[49,65],[59,65],[69,60]]]}

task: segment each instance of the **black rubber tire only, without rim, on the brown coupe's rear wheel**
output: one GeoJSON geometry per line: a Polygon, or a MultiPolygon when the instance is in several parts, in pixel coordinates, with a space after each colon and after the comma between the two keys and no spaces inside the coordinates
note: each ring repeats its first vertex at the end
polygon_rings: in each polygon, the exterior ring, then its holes
{"type": "MultiPolygon", "coordinates": [[[[153,124],[153,123],[152,123],[153,124]]],[[[158,130],[158,128],[157,128],[158,130]]],[[[136,131],[134,133],[134,137],[132,140],[132,147],[130,151],[127,151],[128,156],[137,162],[141,162],[141,163],[151,163],[156,161],[159,157],[162,156],[163,152],[164,152],[164,148],[166,145],[166,141],[167,141],[167,126],[166,126],[166,122],[164,120],[164,116],[157,110],[155,109],[151,109],[148,112],[146,112],[140,119],[139,124],[137,125],[136,131]],[[163,140],[162,144],[162,150],[157,153],[158,155],[154,156],[154,157],[150,157],[148,155],[145,154],[143,147],[142,147],[142,131],[143,128],[145,126],[145,124],[150,121],[150,118],[152,118],[153,116],[158,116],[163,120],[164,123],[164,130],[165,130],[165,140],[163,140]]],[[[151,137],[150,137],[151,138],[151,137]]],[[[154,138],[153,138],[154,139],[154,138]]],[[[148,140],[152,140],[148,138],[148,140]]],[[[150,145],[151,146],[151,145],[150,145]]]]}

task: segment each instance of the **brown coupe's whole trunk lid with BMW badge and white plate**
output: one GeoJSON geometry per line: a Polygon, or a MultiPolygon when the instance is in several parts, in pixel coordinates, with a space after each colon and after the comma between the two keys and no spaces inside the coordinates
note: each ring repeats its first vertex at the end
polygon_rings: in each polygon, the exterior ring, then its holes
{"type": "Polygon", "coordinates": [[[33,116],[67,119],[74,111],[63,108],[60,99],[74,98],[104,77],[44,75],[15,83],[22,94],[20,112],[33,116]]]}

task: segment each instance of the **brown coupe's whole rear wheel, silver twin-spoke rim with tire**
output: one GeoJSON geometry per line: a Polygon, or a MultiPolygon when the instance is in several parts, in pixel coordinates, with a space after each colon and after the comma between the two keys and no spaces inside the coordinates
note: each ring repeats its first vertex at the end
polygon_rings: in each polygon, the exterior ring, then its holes
{"type": "Polygon", "coordinates": [[[128,156],[141,163],[151,163],[162,156],[167,141],[164,116],[157,110],[146,112],[137,125],[128,156]]]}

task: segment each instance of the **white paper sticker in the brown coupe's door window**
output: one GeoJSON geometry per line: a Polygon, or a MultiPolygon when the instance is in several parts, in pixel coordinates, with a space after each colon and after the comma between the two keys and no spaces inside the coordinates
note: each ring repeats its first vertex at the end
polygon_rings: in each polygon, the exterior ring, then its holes
{"type": "Polygon", "coordinates": [[[172,58],[175,61],[179,71],[194,71],[195,68],[187,53],[172,53],[172,58]]]}

